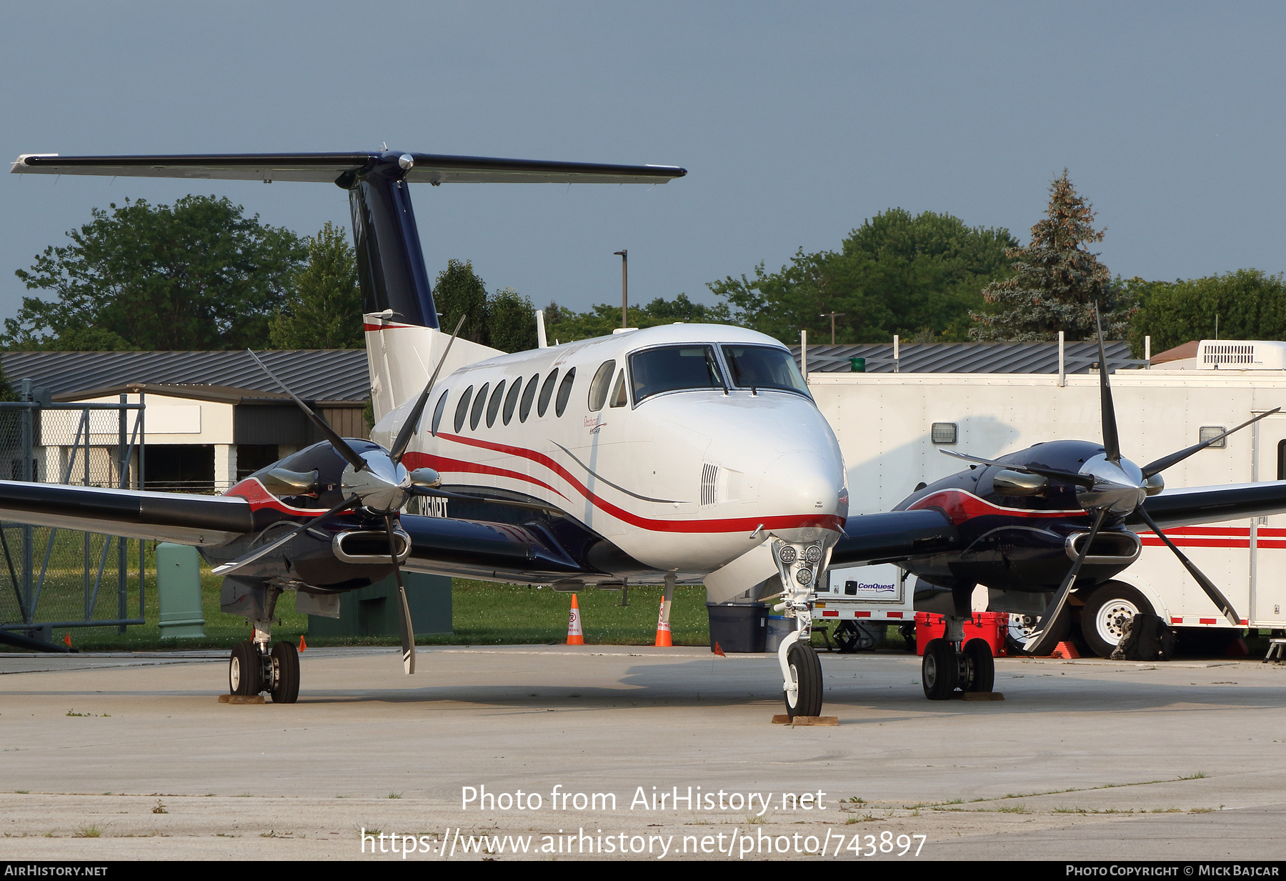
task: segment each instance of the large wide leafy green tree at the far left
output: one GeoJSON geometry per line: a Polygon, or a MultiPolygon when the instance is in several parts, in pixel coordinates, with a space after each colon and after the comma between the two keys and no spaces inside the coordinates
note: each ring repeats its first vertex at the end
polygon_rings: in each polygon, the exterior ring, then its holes
{"type": "Polygon", "coordinates": [[[212,195],[111,208],[95,208],[93,221],[67,233],[69,244],[17,271],[55,300],[23,297],[18,316],[5,320],[4,343],[59,346],[95,331],[95,345],[118,338],[150,350],[267,345],[269,320],[305,256],[294,233],[212,195]]]}

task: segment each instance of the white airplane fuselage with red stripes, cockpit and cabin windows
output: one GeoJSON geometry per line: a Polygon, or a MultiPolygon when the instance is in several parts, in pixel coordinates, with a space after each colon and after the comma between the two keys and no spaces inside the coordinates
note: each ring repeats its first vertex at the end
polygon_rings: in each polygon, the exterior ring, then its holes
{"type": "MultiPolygon", "coordinates": [[[[831,427],[804,391],[750,387],[729,346],[788,359],[760,333],[675,324],[460,367],[435,386],[405,463],[437,469],[444,486],[539,499],[679,580],[700,580],[769,535],[833,539],[847,491],[831,427]],[[653,364],[701,358],[714,387],[655,391],[644,359],[661,349],[653,364]]],[[[386,414],[376,439],[408,410],[386,414]]]]}

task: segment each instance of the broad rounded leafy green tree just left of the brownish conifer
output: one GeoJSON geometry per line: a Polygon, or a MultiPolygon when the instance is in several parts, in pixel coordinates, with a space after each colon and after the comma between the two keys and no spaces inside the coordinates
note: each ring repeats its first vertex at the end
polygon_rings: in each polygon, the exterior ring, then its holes
{"type": "Polygon", "coordinates": [[[963,340],[981,288],[1007,274],[1004,253],[1017,244],[1007,229],[966,226],[949,213],[912,215],[891,208],[853,230],[840,251],[796,251],[777,273],[764,264],[754,278],[727,277],[709,284],[729,318],[783,342],[829,340],[882,342],[894,333],[926,340],[963,340]]]}

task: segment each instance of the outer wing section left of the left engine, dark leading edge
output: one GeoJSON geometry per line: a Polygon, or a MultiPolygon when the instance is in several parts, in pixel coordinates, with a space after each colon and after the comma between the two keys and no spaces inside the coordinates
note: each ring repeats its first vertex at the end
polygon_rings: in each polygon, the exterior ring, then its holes
{"type": "Polygon", "coordinates": [[[255,531],[246,499],[0,480],[0,521],[219,547],[255,531]]]}

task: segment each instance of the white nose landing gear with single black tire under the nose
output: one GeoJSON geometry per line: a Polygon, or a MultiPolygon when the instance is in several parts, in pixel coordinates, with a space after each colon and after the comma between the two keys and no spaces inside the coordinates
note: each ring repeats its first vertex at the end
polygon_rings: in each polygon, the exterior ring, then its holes
{"type": "Polygon", "coordinates": [[[795,619],[795,631],[782,639],[777,649],[786,713],[791,719],[822,715],[822,661],[809,640],[813,635],[813,602],[817,599],[814,585],[829,558],[829,547],[819,541],[790,544],[773,539],[773,559],[782,577],[783,602],[779,608],[784,610],[786,617],[795,619]]]}

